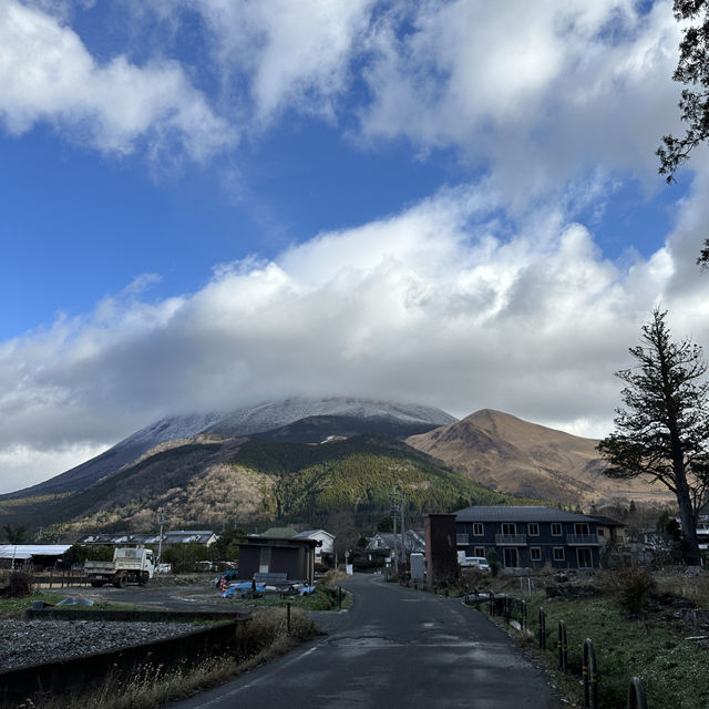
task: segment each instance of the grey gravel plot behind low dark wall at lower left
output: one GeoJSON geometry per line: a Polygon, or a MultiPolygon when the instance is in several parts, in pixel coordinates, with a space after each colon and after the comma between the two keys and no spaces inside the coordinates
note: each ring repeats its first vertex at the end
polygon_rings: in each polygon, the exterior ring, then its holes
{"type": "Polygon", "coordinates": [[[0,619],[0,670],[184,635],[185,623],[0,619]]]}

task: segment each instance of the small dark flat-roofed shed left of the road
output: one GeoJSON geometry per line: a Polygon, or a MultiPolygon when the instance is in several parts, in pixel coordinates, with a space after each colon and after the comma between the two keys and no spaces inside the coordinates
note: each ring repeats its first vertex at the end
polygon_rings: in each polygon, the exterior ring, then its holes
{"type": "Polygon", "coordinates": [[[317,540],[267,537],[249,534],[239,544],[239,578],[251,579],[254,574],[286,574],[289,582],[315,580],[315,549],[317,540]]]}

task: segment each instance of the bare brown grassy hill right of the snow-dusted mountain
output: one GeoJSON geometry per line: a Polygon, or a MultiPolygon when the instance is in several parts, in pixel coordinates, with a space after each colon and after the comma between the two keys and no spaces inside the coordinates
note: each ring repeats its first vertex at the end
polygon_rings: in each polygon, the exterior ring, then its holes
{"type": "Polygon", "coordinates": [[[604,463],[596,451],[598,441],[491,409],[412,435],[407,443],[500,492],[572,504],[671,500],[671,493],[658,485],[603,475],[604,463]]]}

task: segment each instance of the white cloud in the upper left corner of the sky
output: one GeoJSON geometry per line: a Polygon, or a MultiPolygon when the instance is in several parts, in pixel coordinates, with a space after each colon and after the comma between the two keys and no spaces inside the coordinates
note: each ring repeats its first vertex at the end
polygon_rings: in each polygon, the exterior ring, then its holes
{"type": "Polygon", "coordinates": [[[99,64],[71,28],[17,0],[0,6],[0,120],[14,135],[48,122],[103,152],[181,145],[196,161],[236,140],[177,62],[99,64]]]}

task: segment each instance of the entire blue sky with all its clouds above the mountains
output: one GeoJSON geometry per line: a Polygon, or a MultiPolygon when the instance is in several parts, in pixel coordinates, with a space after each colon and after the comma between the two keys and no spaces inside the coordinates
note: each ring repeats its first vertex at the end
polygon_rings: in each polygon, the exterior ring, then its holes
{"type": "MultiPolygon", "coordinates": [[[[671,2],[6,0],[0,487],[289,394],[612,427],[709,343],[671,2]]],[[[2,490],[0,490],[2,492],[2,490]]]]}

